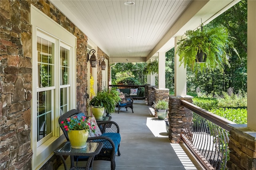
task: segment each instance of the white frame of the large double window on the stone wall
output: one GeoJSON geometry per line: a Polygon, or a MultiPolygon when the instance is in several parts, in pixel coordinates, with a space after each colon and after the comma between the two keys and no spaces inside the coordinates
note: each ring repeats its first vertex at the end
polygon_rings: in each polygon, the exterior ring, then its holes
{"type": "MultiPolygon", "coordinates": [[[[32,156],[32,169],[40,169],[52,156],[53,151],[62,142],[65,141],[64,135],[60,133],[60,127],[58,125],[58,116],[60,115],[60,80],[59,77],[55,78],[54,86],[57,90],[54,90],[56,100],[53,101],[54,119],[53,124],[55,129],[52,131],[52,136],[46,141],[37,142],[37,35],[41,33],[56,39],[56,55],[55,66],[60,68],[60,44],[70,47],[70,89],[69,89],[69,109],[76,109],[76,37],[61,27],[58,23],[50,19],[43,12],[31,5],[30,21],[32,25],[32,102],[31,102],[31,148],[33,150],[32,156]],[[58,96],[58,97],[57,97],[58,96]],[[42,142],[42,143],[41,143],[42,142]]],[[[63,47],[63,46],[62,46],[63,47]]],[[[60,70],[55,67],[54,74],[60,74],[60,70]]]]}

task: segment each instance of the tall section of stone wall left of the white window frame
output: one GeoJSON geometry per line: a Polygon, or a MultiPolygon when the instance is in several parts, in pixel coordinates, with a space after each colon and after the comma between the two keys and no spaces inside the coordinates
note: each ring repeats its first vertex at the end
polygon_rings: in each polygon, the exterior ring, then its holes
{"type": "Polygon", "coordinates": [[[26,1],[6,0],[0,8],[0,169],[31,169],[30,8],[26,1]]]}

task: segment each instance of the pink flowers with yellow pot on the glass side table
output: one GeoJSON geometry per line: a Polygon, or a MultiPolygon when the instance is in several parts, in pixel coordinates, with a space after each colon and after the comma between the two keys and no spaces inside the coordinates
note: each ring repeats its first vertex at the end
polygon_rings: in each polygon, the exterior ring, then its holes
{"type": "Polygon", "coordinates": [[[95,125],[91,125],[87,121],[85,116],[81,116],[80,114],[68,117],[60,123],[60,126],[68,131],[68,139],[70,140],[71,147],[74,149],[85,148],[89,131],[95,132],[96,128],[95,125]]]}

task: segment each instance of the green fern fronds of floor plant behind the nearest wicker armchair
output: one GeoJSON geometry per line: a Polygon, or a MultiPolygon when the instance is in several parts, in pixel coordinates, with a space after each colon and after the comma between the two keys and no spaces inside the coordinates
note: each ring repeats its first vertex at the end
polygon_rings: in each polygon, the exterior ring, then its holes
{"type": "Polygon", "coordinates": [[[98,92],[97,96],[90,100],[89,106],[104,107],[107,114],[106,116],[109,116],[110,113],[114,113],[115,107],[120,100],[121,99],[117,90],[104,89],[98,92]]]}

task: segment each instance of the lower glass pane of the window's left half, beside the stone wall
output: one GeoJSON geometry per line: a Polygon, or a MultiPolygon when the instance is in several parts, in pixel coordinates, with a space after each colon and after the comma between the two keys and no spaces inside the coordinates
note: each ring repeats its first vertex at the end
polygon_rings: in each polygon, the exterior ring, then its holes
{"type": "Polygon", "coordinates": [[[52,132],[51,90],[37,93],[37,141],[52,132]]]}

